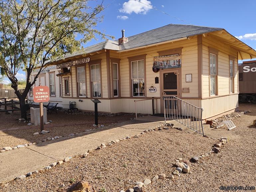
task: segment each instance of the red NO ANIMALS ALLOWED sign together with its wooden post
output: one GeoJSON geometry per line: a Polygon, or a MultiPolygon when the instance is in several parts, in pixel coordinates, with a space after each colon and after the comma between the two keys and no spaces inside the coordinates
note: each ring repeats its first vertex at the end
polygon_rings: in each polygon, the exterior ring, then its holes
{"type": "Polygon", "coordinates": [[[40,103],[40,129],[44,130],[44,111],[43,102],[49,101],[49,87],[47,86],[35,86],[33,88],[34,102],[40,103]]]}

